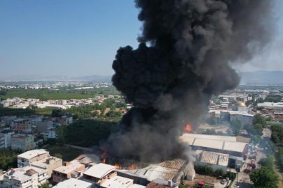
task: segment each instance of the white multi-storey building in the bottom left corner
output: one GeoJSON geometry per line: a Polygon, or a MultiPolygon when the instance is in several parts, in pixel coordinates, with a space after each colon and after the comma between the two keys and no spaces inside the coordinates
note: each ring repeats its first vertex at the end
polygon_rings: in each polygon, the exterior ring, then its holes
{"type": "Polygon", "coordinates": [[[48,180],[48,170],[35,166],[11,169],[0,176],[0,187],[33,188],[48,180]]]}

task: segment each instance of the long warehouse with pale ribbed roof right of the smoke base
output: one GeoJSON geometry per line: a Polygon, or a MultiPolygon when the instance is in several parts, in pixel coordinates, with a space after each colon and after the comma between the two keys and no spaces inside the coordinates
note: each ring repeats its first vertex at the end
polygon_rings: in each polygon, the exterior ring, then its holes
{"type": "Polygon", "coordinates": [[[206,150],[234,155],[236,157],[244,157],[249,151],[249,144],[232,141],[234,139],[235,137],[233,136],[183,134],[182,136],[180,136],[179,141],[181,143],[189,144],[194,150],[206,150]]]}

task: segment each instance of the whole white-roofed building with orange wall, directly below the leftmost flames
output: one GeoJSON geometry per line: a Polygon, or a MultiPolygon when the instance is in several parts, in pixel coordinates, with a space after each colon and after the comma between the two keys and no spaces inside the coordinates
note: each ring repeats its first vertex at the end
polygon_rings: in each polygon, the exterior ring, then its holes
{"type": "Polygon", "coordinates": [[[108,164],[96,164],[83,173],[83,180],[92,183],[93,187],[101,187],[108,178],[117,175],[116,167],[108,164]]]}

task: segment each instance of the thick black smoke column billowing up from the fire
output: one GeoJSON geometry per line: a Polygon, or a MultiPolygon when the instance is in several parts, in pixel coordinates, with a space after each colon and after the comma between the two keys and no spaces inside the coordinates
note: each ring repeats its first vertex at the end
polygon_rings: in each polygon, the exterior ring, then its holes
{"type": "Polygon", "coordinates": [[[270,40],[271,3],[136,0],[140,45],[117,51],[112,79],[134,107],[103,146],[109,155],[144,162],[180,155],[182,120],[198,122],[212,95],[238,86],[229,64],[249,61],[270,40]]]}

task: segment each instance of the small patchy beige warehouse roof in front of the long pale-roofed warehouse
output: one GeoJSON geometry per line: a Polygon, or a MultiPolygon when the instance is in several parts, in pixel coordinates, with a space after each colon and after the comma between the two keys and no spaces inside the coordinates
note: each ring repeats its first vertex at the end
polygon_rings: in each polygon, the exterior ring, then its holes
{"type": "Polygon", "coordinates": [[[196,162],[204,162],[208,164],[217,164],[220,166],[228,166],[229,155],[219,152],[208,152],[196,150],[196,162]]]}

